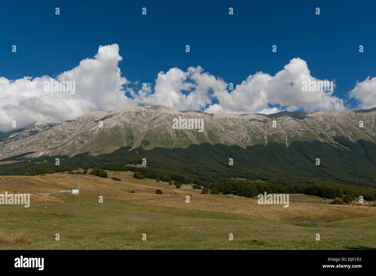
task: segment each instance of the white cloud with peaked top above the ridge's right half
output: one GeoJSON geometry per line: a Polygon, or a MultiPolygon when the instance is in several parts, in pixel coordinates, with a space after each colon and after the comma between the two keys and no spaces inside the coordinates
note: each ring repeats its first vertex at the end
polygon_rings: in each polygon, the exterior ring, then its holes
{"type": "MultiPolygon", "coordinates": [[[[310,75],[308,66],[303,59],[293,58],[284,69],[275,76],[258,72],[250,75],[233,91],[214,93],[223,111],[232,113],[274,113],[276,108],[268,104],[280,105],[285,110],[294,111],[303,108],[308,112],[315,110],[342,110],[343,100],[329,96],[324,91],[302,91],[302,81],[321,81],[310,75]]],[[[218,105],[208,110],[220,110],[218,105]]],[[[281,110],[279,110],[281,111],[281,110]]]]}

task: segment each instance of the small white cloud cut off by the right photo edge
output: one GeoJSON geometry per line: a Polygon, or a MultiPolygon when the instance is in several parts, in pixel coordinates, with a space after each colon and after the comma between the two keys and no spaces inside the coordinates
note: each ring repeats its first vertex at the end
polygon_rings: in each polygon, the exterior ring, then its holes
{"type": "Polygon", "coordinates": [[[376,107],[376,77],[369,76],[362,82],[356,82],[353,90],[349,92],[349,98],[359,101],[361,108],[376,107]]]}

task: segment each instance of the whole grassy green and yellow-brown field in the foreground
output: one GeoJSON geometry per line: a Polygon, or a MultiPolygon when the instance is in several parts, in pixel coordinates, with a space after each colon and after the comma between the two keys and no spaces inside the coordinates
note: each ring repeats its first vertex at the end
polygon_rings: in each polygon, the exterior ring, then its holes
{"type": "MultiPolygon", "coordinates": [[[[287,208],[259,205],[257,197],[203,195],[191,185],[176,189],[131,172],[108,174],[81,175],[79,195],[31,195],[29,208],[0,205],[0,249],[376,249],[376,207],[331,205],[303,194],[291,194],[287,208]]],[[[64,173],[3,177],[0,194],[78,186],[78,175],[64,173]]]]}

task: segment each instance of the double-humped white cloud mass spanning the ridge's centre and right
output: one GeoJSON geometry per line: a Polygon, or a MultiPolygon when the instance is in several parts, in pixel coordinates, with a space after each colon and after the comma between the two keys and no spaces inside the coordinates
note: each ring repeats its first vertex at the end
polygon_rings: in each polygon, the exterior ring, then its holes
{"type": "Polygon", "coordinates": [[[294,58],[283,70],[271,76],[258,72],[250,75],[229,91],[227,82],[203,72],[202,67],[190,67],[186,72],[172,68],[159,72],[154,93],[132,90],[135,104],[164,105],[178,110],[204,110],[208,113],[264,113],[304,109],[343,110],[343,99],[325,91],[302,91],[302,82],[327,81],[314,78],[306,62],[294,58]],[[183,93],[184,92],[184,93],[183,93]],[[218,103],[213,103],[214,99],[218,103]],[[271,105],[271,107],[270,107],[271,105]]]}

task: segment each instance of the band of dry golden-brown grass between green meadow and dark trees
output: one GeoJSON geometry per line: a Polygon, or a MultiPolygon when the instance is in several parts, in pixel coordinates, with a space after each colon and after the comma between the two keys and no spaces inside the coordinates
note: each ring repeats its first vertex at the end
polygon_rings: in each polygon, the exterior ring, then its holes
{"type": "MultiPolygon", "coordinates": [[[[259,205],[258,198],[242,198],[227,195],[200,194],[201,190],[193,190],[191,185],[183,185],[177,189],[166,182],[157,183],[152,179],[137,180],[131,172],[108,172],[109,178],[92,175],[81,175],[80,194],[91,190],[102,195],[105,199],[126,201],[146,206],[170,207],[176,209],[200,210],[208,212],[234,213],[268,218],[277,221],[294,223],[317,223],[339,221],[361,217],[376,217],[376,208],[364,206],[340,206],[323,204],[329,203],[318,197],[302,194],[291,194],[289,207],[283,205],[259,205]],[[111,180],[111,177],[121,178],[122,181],[111,180]],[[166,189],[163,189],[163,188],[166,189]],[[135,194],[129,193],[134,189],[135,194]],[[156,195],[155,190],[161,189],[163,194],[156,195]],[[176,193],[176,194],[175,194],[176,193]],[[186,195],[190,195],[190,203],[186,203],[186,195]],[[162,198],[162,200],[161,200],[162,198]]],[[[0,193],[5,191],[17,193],[53,192],[77,189],[78,175],[63,173],[46,176],[6,176],[12,182],[0,182],[0,193]],[[16,182],[17,181],[17,182],[16,182]],[[58,189],[59,188],[59,189],[58,189]]],[[[64,195],[32,195],[35,202],[62,202],[64,195]]]]}

